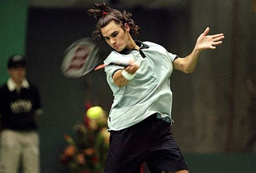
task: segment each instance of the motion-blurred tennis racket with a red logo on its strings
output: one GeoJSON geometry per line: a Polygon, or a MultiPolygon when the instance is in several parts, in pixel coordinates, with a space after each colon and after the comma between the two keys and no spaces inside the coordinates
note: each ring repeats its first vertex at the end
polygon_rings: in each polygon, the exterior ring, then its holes
{"type": "Polygon", "coordinates": [[[100,53],[99,46],[97,46],[96,42],[92,38],[83,38],[73,42],[66,49],[61,71],[66,77],[78,78],[90,74],[93,70],[102,69],[106,66],[130,66],[129,64],[119,62],[100,64],[102,62],[102,53],[100,53]]]}

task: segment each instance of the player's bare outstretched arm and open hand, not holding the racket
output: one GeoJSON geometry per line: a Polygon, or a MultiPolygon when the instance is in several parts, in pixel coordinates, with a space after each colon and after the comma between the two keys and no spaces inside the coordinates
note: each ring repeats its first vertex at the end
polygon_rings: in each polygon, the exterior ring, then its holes
{"type": "Polygon", "coordinates": [[[206,30],[198,37],[196,46],[190,55],[173,61],[174,69],[183,71],[184,73],[192,73],[196,67],[198,57],[203,50],[215,49],[215,46],[222,44],[221,40],[224,39],[224,34],[207,35],[209,31],[210,28],[207,27],[206,30]]]}

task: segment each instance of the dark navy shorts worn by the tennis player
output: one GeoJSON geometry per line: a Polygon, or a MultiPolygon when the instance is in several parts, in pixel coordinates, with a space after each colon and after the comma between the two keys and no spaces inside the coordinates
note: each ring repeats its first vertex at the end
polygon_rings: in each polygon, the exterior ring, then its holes
{"type": "Polygon", "coordinates": [[[105,173],[135,173],[146,162],[151,172],[188,170],[172,138],[170,124],[150,116],[120,131],[110,131],[105,173]]]}

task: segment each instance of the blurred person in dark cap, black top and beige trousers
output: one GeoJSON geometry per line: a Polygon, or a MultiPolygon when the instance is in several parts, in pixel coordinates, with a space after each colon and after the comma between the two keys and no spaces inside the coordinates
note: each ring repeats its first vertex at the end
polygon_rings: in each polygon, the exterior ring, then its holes
{"type": "Polygon", "coordinates": [[[26,78],[24,57],[13,55],[8,62],[9,80],[0,88],[1,155],[5,173],[39,171],[37,119],[42,113],[39,90],[26,78]],[[22,158],[22,160],[21,160],[22,158]]]}

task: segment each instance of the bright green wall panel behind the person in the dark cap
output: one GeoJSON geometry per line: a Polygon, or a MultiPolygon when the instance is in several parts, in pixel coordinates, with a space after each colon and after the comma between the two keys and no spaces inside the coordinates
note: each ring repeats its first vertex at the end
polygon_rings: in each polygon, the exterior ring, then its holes
{"type": "Polygon", "coordinates": [[[12,54],[25,53],[28,0],[1,0],[0,5],[0,84],[6,82],[6,63],[12,54]]]}

